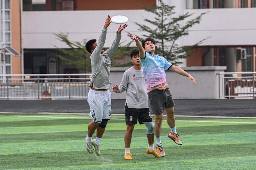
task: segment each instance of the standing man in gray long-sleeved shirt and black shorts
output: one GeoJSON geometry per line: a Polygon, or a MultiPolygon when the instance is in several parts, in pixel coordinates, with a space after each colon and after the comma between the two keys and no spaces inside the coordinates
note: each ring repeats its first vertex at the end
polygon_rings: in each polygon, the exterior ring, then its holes
{"type": "Polygon", "coordinates": [[[122,93],[126,91],[125,101],[125,123],[126,132],[124,135],[125,154],[124,159],[132,159],[130,144],[134,125],[139,120],[140,124],[147,127],[148,154],[153,154],[156,158],[161,158],[154,149],[154,123],[148,109],[148,94],[143,70],[140,63],[139,50],[136,48],[131,52],[133,66],[126,70],[121,84],[113,86],[112,91],[122,93]]]}

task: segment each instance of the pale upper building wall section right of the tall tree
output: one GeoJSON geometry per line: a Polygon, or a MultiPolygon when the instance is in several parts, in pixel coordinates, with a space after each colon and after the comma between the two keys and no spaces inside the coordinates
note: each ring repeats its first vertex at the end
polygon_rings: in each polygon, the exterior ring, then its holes
{"type": "Polygon", "coordinates": [[[256,8],[223,8],[223,9],[188,9],[185,12],[194,13],[192,18],[207,12],[202,17],[200,25],[189,29],[189,35],[184,37],[183,45],[192,45],[205,40],[201,45],[255,45],[256,44],[256,8]],[[246,18],[246,19],[244,19],[246,18]]]}

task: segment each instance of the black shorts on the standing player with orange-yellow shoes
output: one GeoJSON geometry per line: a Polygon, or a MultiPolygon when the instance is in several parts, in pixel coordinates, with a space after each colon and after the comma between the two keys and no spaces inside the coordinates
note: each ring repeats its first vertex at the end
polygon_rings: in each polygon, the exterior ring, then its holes
{"type": "Polygon", "coordinates": [[[125,105],[125,124],[130,124],[130,125],[137,124],[137,120],[139,120],[140,124],[143,124],[143,122],[153,122],[148,108],[144,108],[144,109],[128,108],[126,104],[125,105]]]}

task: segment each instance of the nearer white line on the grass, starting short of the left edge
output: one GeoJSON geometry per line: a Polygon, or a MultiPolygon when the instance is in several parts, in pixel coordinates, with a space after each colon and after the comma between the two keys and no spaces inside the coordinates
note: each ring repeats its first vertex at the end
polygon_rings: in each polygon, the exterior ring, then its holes
{"type": "MultiPolygon", "coordinates": [[[[26,116],[26,115],[14,115],[16,117],[44,117],[44,118],[63,118],[63,119],[92,119],[90,117],[56,117],[56,116],[26,116]]],[[[111,118],[111,120],[125,120],[122,118],[111,118]]],[[[166,121],[166,120],[163,120],[166,121]]],[[[243,124],[256,124],[256,122],[222,122],[222,121],[187,121],[176,120],[176,122],[210,122],[210,123],[243,123],[243,124]]]]}

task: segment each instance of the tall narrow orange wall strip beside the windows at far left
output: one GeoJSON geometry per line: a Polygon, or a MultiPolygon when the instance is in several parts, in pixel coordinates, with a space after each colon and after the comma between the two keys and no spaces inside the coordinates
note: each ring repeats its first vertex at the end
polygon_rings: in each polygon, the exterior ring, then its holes
{"type": "MultiPolygon", "coordinates": [[[[20,0],[12,2],[12,48],[21,54],[20,0]],[[18,3],[17,3],[18,1],[18,3]]],[[[21,56],[12,55],[12,74],[21,74],[21,56]]]]}

